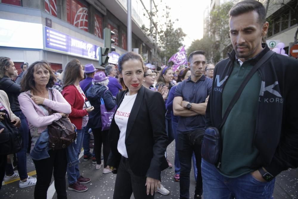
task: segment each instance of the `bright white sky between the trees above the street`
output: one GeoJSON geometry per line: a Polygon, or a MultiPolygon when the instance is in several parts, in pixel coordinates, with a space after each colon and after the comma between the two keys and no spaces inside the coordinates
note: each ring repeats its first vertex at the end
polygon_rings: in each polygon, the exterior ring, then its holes
{"type": "Polygon", "coordinates": [[[189,47],[191,42],[203,37],[204,10],[207,9],[209,0],[163,0],[170,9],[170,18],[176,21],[174,28],[181,27],[187,34],[183,44],[189,47]]]}

